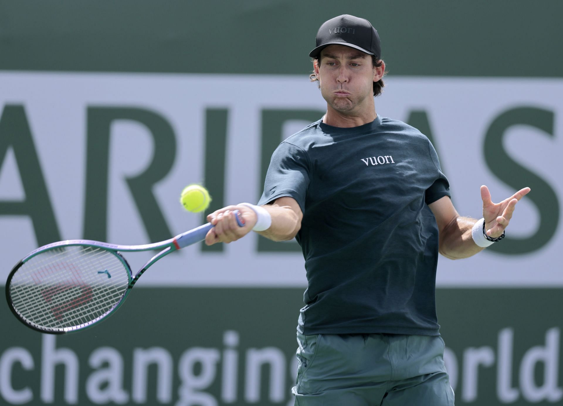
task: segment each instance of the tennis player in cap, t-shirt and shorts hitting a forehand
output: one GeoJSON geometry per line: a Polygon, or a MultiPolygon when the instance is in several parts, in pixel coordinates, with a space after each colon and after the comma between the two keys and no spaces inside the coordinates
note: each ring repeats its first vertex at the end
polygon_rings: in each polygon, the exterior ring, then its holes
{"type": "Polygon", "coordinates": [[[251,229],[300,243],[309,287],[296,405],[453,405],[436,319],[438,252],[465,258],[502,239],[530,189],[493,203],[481,186],[484,218],[459,216],[427,137],[376,113],[385,63],[369,21],[328,20],[310,56],[327,113],[278,146],[261,206],[209,215],[206,243],[251,229]]]}

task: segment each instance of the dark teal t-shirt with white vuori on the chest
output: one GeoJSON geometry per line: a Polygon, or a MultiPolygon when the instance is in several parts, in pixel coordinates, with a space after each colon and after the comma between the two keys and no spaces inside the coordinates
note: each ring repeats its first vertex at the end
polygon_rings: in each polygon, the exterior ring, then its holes
{"type": "Polygon", "coordinates": [[[303,211],[302,333],[439,335],[427,205],[450,193],[426,136],[379,116],[353,128],[312,123],[274,151],[258,204],[283,196],[303,211]]]}

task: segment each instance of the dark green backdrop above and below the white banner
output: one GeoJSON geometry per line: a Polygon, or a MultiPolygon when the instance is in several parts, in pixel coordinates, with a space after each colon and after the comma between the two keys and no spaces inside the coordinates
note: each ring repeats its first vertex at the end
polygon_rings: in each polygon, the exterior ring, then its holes
{"type": "MultiPolygon", "coordinates": [[[[391,77],[521,77],[525,93],[525,78],[563,76],[563,3],[523,0],[0,0],[0,70],[306,75],[318,26],[343,13],[376,26],[391,77]]],[[[225,111],[208,114],[206,142],[226,142],[225,111]]],[[[302,291],[140,287],[100,326],[56,338],[0,306],[0,403],[288,404],[302,291]]],[[[562,293],[438,289],[456,404],[561,402],[562,293]]]]}

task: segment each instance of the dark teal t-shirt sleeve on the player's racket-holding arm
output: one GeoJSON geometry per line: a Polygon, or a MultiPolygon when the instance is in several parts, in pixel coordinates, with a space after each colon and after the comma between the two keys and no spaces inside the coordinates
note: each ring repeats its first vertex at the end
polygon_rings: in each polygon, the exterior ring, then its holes
{"type": "Polygon", "coordinates": [[[305,197],[309,187],[309,158],[302,148],[282,142],[274,151],[266,173],[264,191],[258,205],[289,196],[294,198],[305,213],[305,197]]]}

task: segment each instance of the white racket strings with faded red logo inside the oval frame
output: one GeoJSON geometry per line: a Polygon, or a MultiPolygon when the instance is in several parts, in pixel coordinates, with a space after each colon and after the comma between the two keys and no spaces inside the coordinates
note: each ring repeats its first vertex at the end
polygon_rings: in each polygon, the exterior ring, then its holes
{"type": "Polygon", "coordinates": [[[99,247],[66,246],[24,262],[10,283],[14,308],[43,329],[93,323],[118,304],[129,273],[113,252],[99,247]]]}

